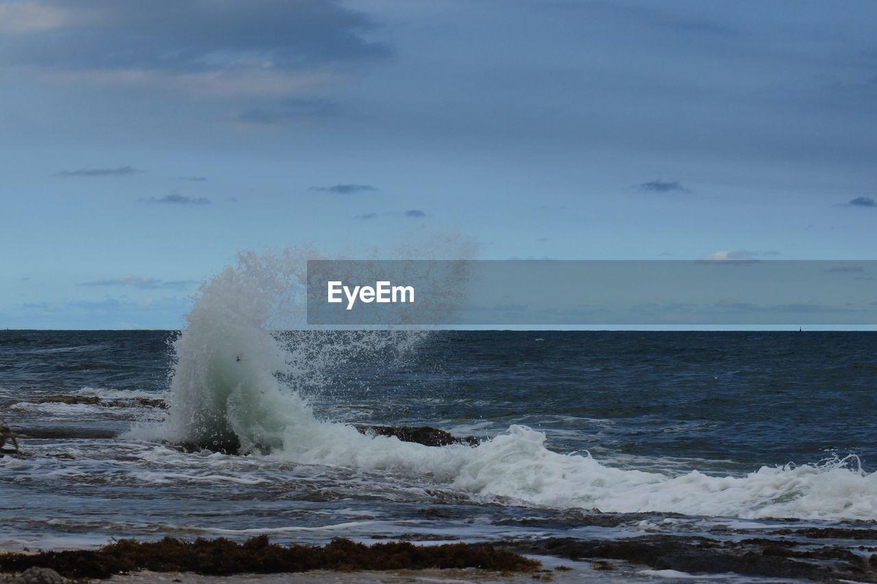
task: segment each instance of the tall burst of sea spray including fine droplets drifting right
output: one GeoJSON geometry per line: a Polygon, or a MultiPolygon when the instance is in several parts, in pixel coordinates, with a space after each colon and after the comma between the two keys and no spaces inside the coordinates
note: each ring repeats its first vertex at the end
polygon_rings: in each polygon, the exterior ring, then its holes
{"type": "MultiPolygon", "coordinates": [[[[472,245],[427,239],[396,253],[467,257],[472,245]]],[[[325,256],[308,247],[240,253],[236,266],[200,288],[174,343],[170,411],[155,438],[270,452],[287,431],[319,433],[306,390],[327,387],[353,359],[397,358],[423,338],[420,331],[307,331],[307,260],[315,259],[325,256]]]]}

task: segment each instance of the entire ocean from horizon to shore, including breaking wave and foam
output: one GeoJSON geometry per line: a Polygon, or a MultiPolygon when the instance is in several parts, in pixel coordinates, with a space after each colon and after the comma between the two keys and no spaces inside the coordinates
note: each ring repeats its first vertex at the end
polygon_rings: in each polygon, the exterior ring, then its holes
{"type": "Polygon", "coordinates": [[[0,417],[33,437],[0,458],[0,548],[752,538],[877,520],[873,333],[244,338],[0,331],[0,417]],[[212,452],[229,438],[242,453],[212,452]]]}

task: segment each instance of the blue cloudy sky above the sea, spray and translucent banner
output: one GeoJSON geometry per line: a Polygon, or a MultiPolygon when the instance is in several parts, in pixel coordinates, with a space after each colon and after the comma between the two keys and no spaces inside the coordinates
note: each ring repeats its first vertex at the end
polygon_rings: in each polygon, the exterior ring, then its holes
{"type": "Polygon", "coordinates": [[[877,4],[0,0],[0,327],[241,250],[873,260],[877,4]],[[792,10],[794,6],[794,10],[792,10]]]}

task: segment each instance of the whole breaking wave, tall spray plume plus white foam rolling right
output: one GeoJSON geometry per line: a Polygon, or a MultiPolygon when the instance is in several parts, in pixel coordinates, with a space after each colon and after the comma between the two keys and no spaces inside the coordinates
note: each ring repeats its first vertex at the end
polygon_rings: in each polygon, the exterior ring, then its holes
{"type": "Polygon", "coordinates": [[[140,437],[224,444],[306,464],[389,472],[491,502],[603,512],[672,512],[743,518],[877,519],[877,474],[852,459],[763,466],[745,476],[665,474],[607,466],[545,447],[524,425],[476,447],[431,447],[367,436],[318,420],[303,397],[350,367],[416,347],[423,333],[278,334],[301,328],[306,260],[313,253],[243,253],[203,286],[175,342],[167,420],[140,437]],[[297,319],[297,320],[296,320],[297,319]]]}

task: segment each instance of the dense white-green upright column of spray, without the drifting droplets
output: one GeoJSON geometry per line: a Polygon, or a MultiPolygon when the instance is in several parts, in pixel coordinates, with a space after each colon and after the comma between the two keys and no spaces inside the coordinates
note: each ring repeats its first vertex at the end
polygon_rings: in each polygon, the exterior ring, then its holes
{"type": "Polygon", "coordinates": [[[301,397],[275,377],[288,365],[267,331],[284,298],[296,293],[302,277],[296,266],[242,253],[237,267],[226,267],[202,287],[175,341],[164,438],[270,449],[280,445],[270,429],[295,424],[296,413],[305,413],[301,397]]]}

